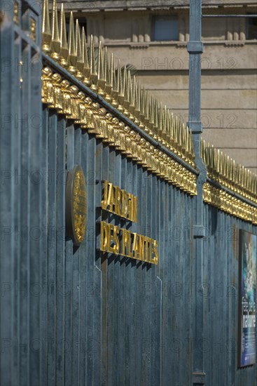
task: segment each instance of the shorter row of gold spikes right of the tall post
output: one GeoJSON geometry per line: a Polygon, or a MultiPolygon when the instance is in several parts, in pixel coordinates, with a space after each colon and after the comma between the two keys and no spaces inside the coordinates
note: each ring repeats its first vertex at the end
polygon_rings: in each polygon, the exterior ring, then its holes
{"type": "Polygon", "coordinates": [[[257,176],[235,160],[216,149],[213,145],[201,141],[201,153],[209,176],[216,182],[228,187],[242,196],[257,201],[257,176]]]}

